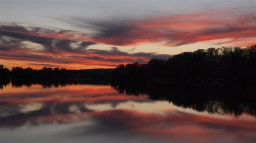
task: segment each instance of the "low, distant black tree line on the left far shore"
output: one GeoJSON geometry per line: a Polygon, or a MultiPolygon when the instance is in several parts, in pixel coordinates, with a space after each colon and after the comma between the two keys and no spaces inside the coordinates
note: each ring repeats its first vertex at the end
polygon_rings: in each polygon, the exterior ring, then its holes
{"type": "Polygon", "coordinates": [[[0,65],[0,79],[12,81],[65,81],[69,79],[106,79],[112,69],[67,70],[65,68],[43,67],[32,69],[13,67],[11,70],[0,65]]]}

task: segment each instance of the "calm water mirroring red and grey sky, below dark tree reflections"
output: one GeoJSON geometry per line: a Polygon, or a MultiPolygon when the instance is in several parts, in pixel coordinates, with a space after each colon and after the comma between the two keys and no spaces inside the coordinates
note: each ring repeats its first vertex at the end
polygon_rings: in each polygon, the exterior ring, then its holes
{"type": "Polygon", "coordinates": [[[255,116],[198,112],[110,85],[0,89],[0,142],[255,142],[255,116]]]}

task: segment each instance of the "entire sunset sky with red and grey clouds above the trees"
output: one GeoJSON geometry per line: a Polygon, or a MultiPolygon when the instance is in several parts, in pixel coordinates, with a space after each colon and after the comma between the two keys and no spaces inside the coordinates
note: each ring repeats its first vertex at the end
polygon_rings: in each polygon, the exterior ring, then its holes
{"type": "Polygon", "coordinates": [[[255,44],[255,0],[0,0],[7,68],[114,68],[255,44]]]}

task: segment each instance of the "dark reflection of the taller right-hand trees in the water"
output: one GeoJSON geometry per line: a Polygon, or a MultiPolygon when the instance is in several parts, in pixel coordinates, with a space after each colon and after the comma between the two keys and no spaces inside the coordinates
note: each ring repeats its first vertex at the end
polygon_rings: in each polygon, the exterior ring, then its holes
{"type": "Polygon", "coordinates": [[[190,89],[180,87],[160,87],[154,85],[113,84],[111,85],[120,93],[127,95],[147,94],[152,100],[167,100],[174,105],[190,108],[208,113],[231,113],[235,116],[248,113],[256,115],[255,96],[251,94],[241,96],[244,90],[240,89],[190,89]]]}

